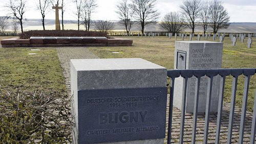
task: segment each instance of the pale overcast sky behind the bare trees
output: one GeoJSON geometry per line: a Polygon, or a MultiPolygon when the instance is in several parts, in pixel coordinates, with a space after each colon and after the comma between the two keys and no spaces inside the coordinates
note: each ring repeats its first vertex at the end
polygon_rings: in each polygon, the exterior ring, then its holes
{"type": "MultiPolygon", "coordinates": [[[[4,7],[5,3],[9,0],[0,0],[0,16],[8,14],[8,10],[4,7]]],[[[28,8],[25,13],[25,18],[40,19],[41,15],[36,10],[35,2],[38,0],[27,0],[28,8]]],[[[72,0],[66,0],[72,1],[72,0]]],[[[120,0],[96,0],[98,7],[93,14],[93,19],[102,20],[118,20],[115,13],[116,5],[120,0]]],[[[201,0],[206,1],[206,0],[201,0]]],[[[230,15],[230,22],[256,22],[256,0],[223,0],[223,5],[227,9],[230,15]]],[[[182,4],[181,0],[157,0],[156,9],[161,13],[158,21],[170,11],[179,11],[179,6],[182,4]]],[[[67,11],[64,16],[66,20],[75,19],[73,10],[75,10],[74,3],[69,3],[67,11]]],[[[55,14],[52,10],[49,10],[46,15],[46,19],[55,19],[55,14]]]]}

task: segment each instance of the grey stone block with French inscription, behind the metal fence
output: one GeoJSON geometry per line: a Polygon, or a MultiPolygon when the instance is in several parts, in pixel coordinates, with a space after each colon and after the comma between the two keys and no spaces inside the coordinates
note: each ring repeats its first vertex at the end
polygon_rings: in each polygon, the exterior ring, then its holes
{"type": "MultiPolygon", "coordinates": [[[[209,42],[209,41],[177,41],[175,43],[175,62],[174,68],[177,69],[177,52],[186,52],[185,69],[218,69],[222,66],[222,49],[223,43],[209,42]]],[[[179,60],[178,60],[179,61],[179,60]]],[[[184,79],[179,77],[175,80],[174,91],[174,106],[181,109],[181,98],[183,95],[184,79]]],[[[205,112],[206,106],[206,94],[207,94],[207,77],[201,78],[201,94],[199,95],[199,109],[198,112],[205,112]]],[[[186,112],[193,113],[194,110],[194,98],[195,98],[195,85],[197,78],[192,77],[188,79],[187,88],[187,102],[186,112]]],[[[218,110],[218,97],[219,97],[219,84],[220,77],[214,78],[214,87],[212,89],[211,97],[211,112],[218,110]]]]}

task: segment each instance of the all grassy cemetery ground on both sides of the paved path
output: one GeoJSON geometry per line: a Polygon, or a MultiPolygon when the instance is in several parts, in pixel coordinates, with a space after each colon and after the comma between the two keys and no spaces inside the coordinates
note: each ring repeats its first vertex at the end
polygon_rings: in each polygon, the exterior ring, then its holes
{"type": "MultiPolygon", "coordinates": [[[[118,38],[133,39],[133,46],[87,48],[101,59],[140,57],[147,61],[166,67],[167,69],[174,69],[174,37],[172,37],[172,39],[164,36],[155,38],[138,38],[138,36],[118,38]]],[[[7,39],[7,37],[0,37],[0,40],[1,39],[7,39]]],[[[179,41],[181,39],[177,37],[177,40],[179,41]]],[[[189,37],[184,40],[189,40],[189,37]]],[[[193,40],[197,41],[197,37],[194,37],[193,40]]],[[[201,37],[201,40],[205,39],[201,37]]],[[[209,41],[212,41],[212,37],[209,41]]],[[[244,43],[241,43],[241,41],[238,39],[236,46],[232,46],[230,38],[226,37],[224,39],[222,68],[255,68],[255,41],[256,39],[252,38],[251,48],[247,48],[247,38],[244,43]]],[[[216,42],[219,42],[219,40],[216,40],[216,42]]],[[[70,51],[70,49],[60,47],[0,47],[0,84],[4,88],[9,88],[12,90],[21,89],[33,92],[35,89],[37,89],[38,91],[44,92],[58,91],[62,94],[68,93],[65,77],[63,76],[62,72],[63,68],[61,68],[60,60],[58,57],[58,50],[60,49],[64,52],[66,51],[67,54],[75,53],[74,51],[70,51]],[[34,53],[34,51],[31,51],[31,49],[40,49],[40,51],[36,52],[35,55],[29,55],[29,53],[34,53]]],[[[82,48],[79,48],[79,50],[81,49],[82,48]]],[[[242,79],[244,78],[240,76],[236,98],[236,106],[238,107],[242,107],[244,86],[244,80],[242,79]]],[[[167,82],[169,82],[169,79],[167,82]]],[[[225,91],[225,102],[230,102],[231,84],[232,79],[231,76],[229,76],[226,79],[225,85],[226,90],[228,90],[225,91]]],[[[255,91],[255,85],[256,77],[252,76],[247,104],[247,110],[249,111],[252,111],[253,108],[253,92],[255,91]]],[[[225,109],[228,110],[227,107],[225,109]]],[[[175,113],[177,113],[177,110],[175,113]]],[[[187,117],[192,118],[193,116],[187,117]]],[[[180,121],[180,119],[177,121],[180,121]]],[[[176,125],[177,123],[173,124],[176,125]]],[[[174,131],[174,133],[179,133],[179,131],[174,131]]],[[[174,136],[176,135],[174,134],[174,136]]]]}

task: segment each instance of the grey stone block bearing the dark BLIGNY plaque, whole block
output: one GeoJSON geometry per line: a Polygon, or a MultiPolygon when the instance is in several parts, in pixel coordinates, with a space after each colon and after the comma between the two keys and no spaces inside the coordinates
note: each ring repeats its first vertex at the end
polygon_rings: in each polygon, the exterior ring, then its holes
{"type": "Polygon", "coordinates": [[[164,143],[166,75],[143,59],[71,60],[72,143],[164,143]]]}

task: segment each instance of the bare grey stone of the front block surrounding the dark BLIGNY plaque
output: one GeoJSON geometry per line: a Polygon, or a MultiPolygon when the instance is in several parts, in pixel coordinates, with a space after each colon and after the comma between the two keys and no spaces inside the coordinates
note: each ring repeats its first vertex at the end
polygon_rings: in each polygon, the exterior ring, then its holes
{"type": "MultiPolygon", "coordinates": [[[[71,60],[71,94],[74,95],[72,112],[79,117],[78,91],[166,87],[166,70],[143,59],[71,60]]],[[[77,125],[74,128],[73,143],[77,142],[78,117],[75,119],[77,125]]],[[[150,141],[159,143],[159,139],[150,141]]]]}

